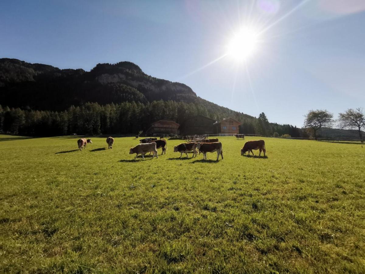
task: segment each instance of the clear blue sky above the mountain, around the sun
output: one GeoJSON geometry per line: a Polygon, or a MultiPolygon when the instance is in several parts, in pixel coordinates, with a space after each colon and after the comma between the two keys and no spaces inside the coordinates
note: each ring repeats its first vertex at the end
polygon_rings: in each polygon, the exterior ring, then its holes
{"type": "Polygon", "coordinates": [[[364,11],[364,0],[3,0],[0,57],[87,71],[131,61],[221,106],[301,127],[310,109],[364,107],[364,11]],[[225,54],[241,27],[260,34],[239,62],[225,54]]]}

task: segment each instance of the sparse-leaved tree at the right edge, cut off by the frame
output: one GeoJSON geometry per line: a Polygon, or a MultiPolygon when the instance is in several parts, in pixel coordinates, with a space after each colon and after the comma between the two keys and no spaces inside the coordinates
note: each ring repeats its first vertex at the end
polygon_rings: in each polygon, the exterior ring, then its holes
{"type": "Polygon", "coordinates": [[[361,128],[365,125],[365,115],[360,107],[356,110],[348,109],[345,113],[338,114],[338,125],[342,129],[358,129],[361,142],[362,139],[361,128]]]}

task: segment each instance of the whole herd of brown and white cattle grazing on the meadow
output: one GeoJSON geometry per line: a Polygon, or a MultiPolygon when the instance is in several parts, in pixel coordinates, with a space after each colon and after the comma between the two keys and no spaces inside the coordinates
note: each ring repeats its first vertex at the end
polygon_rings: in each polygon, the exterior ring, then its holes
{"type": "MultiPolygon", "coordinates": [[[[243,138],[245,139],[244,134],[236,134],[235,137],[243,138]]],[[[207,139],[207,136],[185,136],[185,140],[187,140],[186,143],[182,143],[180,145],[174,146],[174,152],[180,152],[180,158],[185,153],[188,157],[188,152],[192,152],[193,156],[192,158],[196,157],[197,153],[203,153],[203,159],[207,160],[207,152],[217,152],[217,161],[219,160],[219,155],[223,159],[223,150],[222,150],[222,143],[219,142],[217,138],[214,139],[207,139]]],[[[79,139],[77,140],[77,145],[80,151],[82,148],[86,148],[86,145],[88,143],[92,144],[91,139],[79,139]]],[[[107,138],[107,144],[108,148],[111,149],[114,144],[114,138],[108,137],[107,138]]],[[[152,159],[157,156],[157,149],[162,148],[162,153],[166,154],[167,149],[167,143],[166,140],[162,137],[160,140],[157,140],[157,138],[144,138],[139,140],[139,144],[136,145],[134,148],[130,148],[129,154],[136,154],[134,159],[137,158],[138,155],[142,155],[142,158],[145,159],[146,153],[153,153],[152,159]]],[[[241,155],[245,155],[246,152],[248,152],[248,155],[250,155],[250,152],[252,155],[254,155],[252,150],[259,150],[259,156],[261,156],[261,152],[264,152],[264,157],[266,156],[266,149],[265,149],[265,142],[264,140],[257,140],[257,141],[247,141],[245,142],[245,145],[243,145],[243,148],[241,149],[241,155]]]]}

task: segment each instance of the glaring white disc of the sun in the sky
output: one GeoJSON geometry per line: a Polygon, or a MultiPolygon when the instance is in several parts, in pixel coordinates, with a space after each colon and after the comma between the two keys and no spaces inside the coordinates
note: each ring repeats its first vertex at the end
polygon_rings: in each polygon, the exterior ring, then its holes
{"type": "Polygon", "coordinates": [[[241,28],[228,44],[227,55],[236,61],[246,60],[257,47],[257,34],[250,28],[241,28]]]}

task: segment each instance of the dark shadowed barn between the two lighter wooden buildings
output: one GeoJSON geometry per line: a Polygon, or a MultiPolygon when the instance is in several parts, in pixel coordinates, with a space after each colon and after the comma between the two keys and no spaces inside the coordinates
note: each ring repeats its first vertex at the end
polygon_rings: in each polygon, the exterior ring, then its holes
{"type": "Polygon", "coordinates": [[[194,134],[213,134],[214,119],[205,117],[203,115],[196,115],[194,117],[186,119],[180,125],[181,135],[194,135],[194,134]]]}

